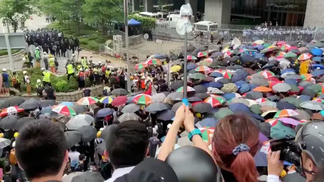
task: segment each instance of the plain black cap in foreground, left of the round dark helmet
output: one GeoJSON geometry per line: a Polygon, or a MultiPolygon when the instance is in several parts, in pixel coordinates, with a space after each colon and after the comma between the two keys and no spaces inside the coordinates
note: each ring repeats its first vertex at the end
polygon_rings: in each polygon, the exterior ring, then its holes
{"type": "Polygon", "coordinates": [[[166,162],[158,159],[146,158],[130,173],[118,177],[115,182],[178,182],[174,170],[166,162]]]}

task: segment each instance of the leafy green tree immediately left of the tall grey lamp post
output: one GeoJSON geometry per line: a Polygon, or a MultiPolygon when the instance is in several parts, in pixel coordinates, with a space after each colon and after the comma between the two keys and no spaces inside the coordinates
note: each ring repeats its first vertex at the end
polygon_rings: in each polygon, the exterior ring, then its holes
{"type": "Polygon", "coordinates": [[[86,0],[82,6],[85,18],[90,22],[98,22],[101,25],[101,39],[103,39],[104,26],[108,24],[111,33],[111,21],[123,17],[123,9],[120,8],[121,0],[86,0]]]}

